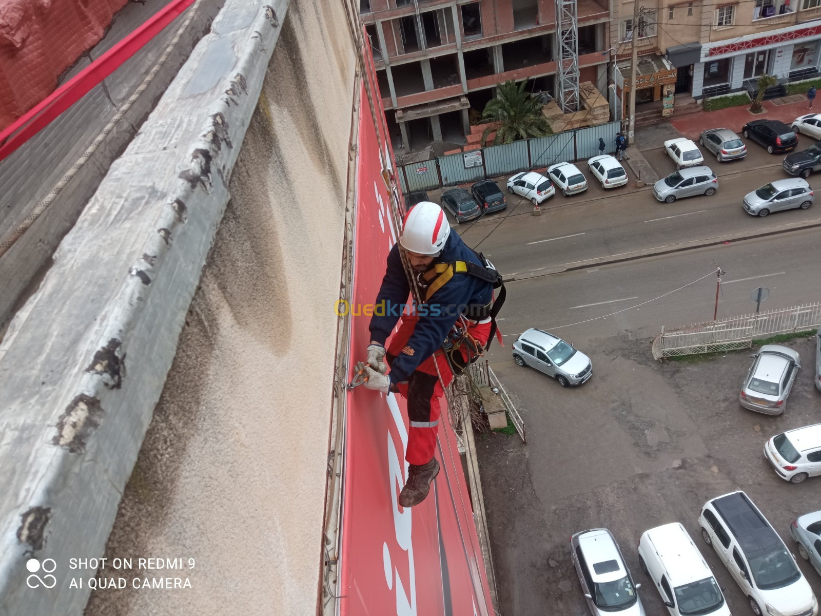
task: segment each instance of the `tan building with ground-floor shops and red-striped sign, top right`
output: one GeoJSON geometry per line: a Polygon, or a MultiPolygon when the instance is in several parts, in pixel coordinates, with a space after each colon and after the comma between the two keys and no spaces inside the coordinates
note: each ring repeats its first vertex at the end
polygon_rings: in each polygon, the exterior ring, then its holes
{"type": "MultiPolygon", "coordinates": [[[[637,1],[640,54],[663,54],[677,71],[676,93],[700,99],[752,91],[763,73],[784,81],[819,75],[821,0],[637,1]]],[[[612,46],[629,57],[634,0],[612,0],[612,9],[612,46]]],[[[625,75],[626,64],[619,66],[625,75]]],[[[647,99],[637,91],[637,105],[647,99]]]]}

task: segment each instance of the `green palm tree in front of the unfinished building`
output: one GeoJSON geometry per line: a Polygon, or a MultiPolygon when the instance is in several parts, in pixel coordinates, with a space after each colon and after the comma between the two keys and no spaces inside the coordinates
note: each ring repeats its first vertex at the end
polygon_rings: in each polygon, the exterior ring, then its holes
{"type": "Polygon", "coordinates": [[[530,92],[525,92],[525,85],[526,81],[521,81],[517,85],[515,81],[510,80],[498,86],[496,98],[490,99],[484,106],[482,120],[501,122],[501,126],[496,129],[488,126],[484,129],[483,144],[494,130],[496,137],[493,139],[493,145],[553,134],[547,118],[542,113],[542,103],[530,92]]]}

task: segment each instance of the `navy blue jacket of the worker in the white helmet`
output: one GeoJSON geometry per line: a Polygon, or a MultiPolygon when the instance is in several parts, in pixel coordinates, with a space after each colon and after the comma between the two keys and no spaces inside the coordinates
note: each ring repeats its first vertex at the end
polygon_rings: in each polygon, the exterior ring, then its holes
{"type": "MultiPolygon", "coordinates": [[[[479,258],[465,245],[455,232],[447,238],[442,254],[433,260],[433,264],[451,263],[452,261],[472,261],[477,264],[479,258]]],[[[429,301],[419,309],[419,321],[414,332],[410,334],[407,346],[415,353],[400,353],[391,365],[391,383],[401,383],[416,370],[424,360],[433,355],[442,346],[447,333],[456,319],[468,304],[487,304],[492,297],[493,285],[468,274],[454,274],[443,287],[433,293],[429,301]]],[[[388,254],[388,270],[382,279],[382,287],[376,297],[376,306],[384,301],[384,306],[401,306],[410,301],[410,286],[402,267],[399,255],[399,244],[395,244],[388,254]]],[[[370,338],[384,344],[401,312],[385,310],[382,316],[375,315],[370,319],[370,338]]]]}

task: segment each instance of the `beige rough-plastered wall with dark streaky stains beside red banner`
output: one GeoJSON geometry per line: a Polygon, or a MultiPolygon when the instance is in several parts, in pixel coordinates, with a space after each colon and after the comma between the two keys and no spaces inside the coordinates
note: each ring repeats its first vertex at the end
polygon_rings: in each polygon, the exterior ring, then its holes
{"type": "MultiPolygon", "coordinates": [[[[314,614],[355,48],[294,0],[232,199],[106,556],[196,559],[192,591],[97,591],[86,616],[314,614]]],[[[136,575],[136,572],[135,572],[136,575]]]]}

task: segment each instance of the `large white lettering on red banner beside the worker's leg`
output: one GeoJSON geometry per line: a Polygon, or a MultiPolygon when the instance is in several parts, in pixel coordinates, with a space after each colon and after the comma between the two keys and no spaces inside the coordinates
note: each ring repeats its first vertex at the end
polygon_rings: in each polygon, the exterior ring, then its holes
{"type": "MultiPolygon", "coordinates": [[[[405,450],[407,448],[408,434],[405,430],[405,422],[402,421],[401,411],[397,404],[397,399],[392,393],[388,393],[388,408],[391,409],[391,416],[393,424],[397,428],[399,439],[402,443],[402,457],[405,457],[405,450]]],[[[402,462],[405,462],[403,459],[402,462]]],[[[416,616],[416,569],[413,560],[413,540],[411,535],[412,509],[410,507],[404,508],[404,511],[399,511],[399,502],[397,498],[397,488],[402,489],[405,485],[407,477],[407,462],[402,464],[399,461],[399,453],[397,447],[393,442],[393,437],[390,430],[388,430],[388,478],[389,489],[391,490],[391,504],[393,513],[393,531],[397,538],[397,544],[401,549],[406,551],[408,559],[409,575],[409,590],[405,591],[405,585],[402,584],[401,577],[399,577],[399,570],[392,567],[392,558],[388,544],[383,545],[383,563],[385,566],[385,582],[388,584],[388,590],[392,589],[393,577],[395,575],[396,593],[397,593],[397,616],[416,616]],[[393,568],[393,572],[391,572],[393,568]]]]}

